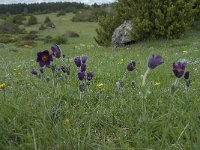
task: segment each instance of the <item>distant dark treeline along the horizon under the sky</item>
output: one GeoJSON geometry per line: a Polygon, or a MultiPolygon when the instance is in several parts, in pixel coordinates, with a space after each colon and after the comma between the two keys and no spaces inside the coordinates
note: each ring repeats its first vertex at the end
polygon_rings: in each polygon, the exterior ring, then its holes
{"type": "Polygon", "coordinates": [[[77,10],[88,7],[88,5],[76,2],[0,4],[0,14],[46,13],[60,10],[66,12],[76,12],[77,10]]]}

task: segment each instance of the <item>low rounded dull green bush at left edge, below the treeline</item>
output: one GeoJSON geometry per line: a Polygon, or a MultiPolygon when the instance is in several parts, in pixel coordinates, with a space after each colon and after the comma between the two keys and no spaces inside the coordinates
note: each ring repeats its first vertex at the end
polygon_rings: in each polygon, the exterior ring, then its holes
{"type": "Polygon", "coordinates": [[[25,30],[19,28],[18,25],[14,24],[11,21],[4,21],[2,24],[0,24],[0,33],[1,34],[21,34],[21,33],[25,33],[25,30]]]}

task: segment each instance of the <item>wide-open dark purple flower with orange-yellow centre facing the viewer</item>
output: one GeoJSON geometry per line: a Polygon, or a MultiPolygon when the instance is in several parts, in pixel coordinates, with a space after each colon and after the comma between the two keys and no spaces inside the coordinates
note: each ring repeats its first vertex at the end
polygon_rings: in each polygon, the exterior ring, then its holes
{"type": "Polygon", "coordinates": [[[40,67],[49,66],[51,61],[53,61],[53,58],[48,50],[37,53],[37,62],[39,62],[40,67]]]}

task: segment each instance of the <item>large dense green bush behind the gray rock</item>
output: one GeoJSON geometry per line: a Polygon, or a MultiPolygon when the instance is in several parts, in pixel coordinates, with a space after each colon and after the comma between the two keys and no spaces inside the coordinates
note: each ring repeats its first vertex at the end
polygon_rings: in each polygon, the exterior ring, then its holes
{"type": "Polygon", "coordinates": [[[179,38],[194,20],[196,1],[119,0],[115,5],[116,17],[112,20],[107,15],[99,20],[100,27],[97,30],[96,41],[101,45],[108,45],[108,40],[111,42],[114,27],[126,20],[134,24],[130,35],[135,40],[179,38]],[[106,39],[105,42],[104,39],[106,39]]]}

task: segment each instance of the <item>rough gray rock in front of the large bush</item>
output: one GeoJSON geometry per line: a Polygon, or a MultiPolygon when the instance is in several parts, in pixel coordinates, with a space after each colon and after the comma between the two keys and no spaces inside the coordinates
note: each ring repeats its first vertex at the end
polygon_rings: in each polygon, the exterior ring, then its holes
{"type": "Polygon", "coordinates": [[[134,26],[130,22],[124,22],[115,29],[112,35],[112,47],[117,48],[119,46],[129,45],[135,42],[129,36],[129,31],[133,30],[134,26]]]}

